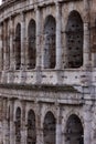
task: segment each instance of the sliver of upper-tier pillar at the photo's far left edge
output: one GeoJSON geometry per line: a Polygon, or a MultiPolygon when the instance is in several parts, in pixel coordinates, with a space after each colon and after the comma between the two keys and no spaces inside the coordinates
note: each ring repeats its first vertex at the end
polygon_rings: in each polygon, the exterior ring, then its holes
{"type": "Polygon", "coordinates": [[[2,55],[3,55],[2,53],[2,24],[0,23],[0,71],[2,71],[2,66],[3,66],[2,55]]]}

